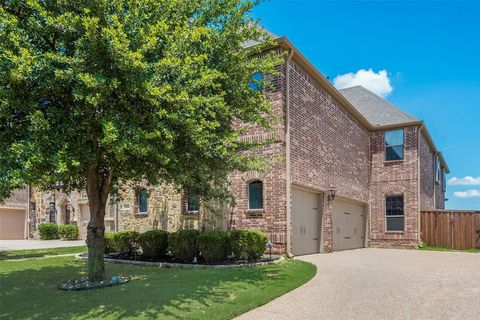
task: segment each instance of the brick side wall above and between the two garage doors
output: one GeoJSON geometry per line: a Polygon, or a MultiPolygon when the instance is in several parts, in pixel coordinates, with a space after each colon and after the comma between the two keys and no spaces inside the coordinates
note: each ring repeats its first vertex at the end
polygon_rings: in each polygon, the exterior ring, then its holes
{"type": "MultiPolygon", "coordinates": [[[[290,63],[292,184],[368,202],[368,130],[294,61],[290,63]]],[[[332,204],[323,197],[323,250],[332,250],[332,204]]]]}

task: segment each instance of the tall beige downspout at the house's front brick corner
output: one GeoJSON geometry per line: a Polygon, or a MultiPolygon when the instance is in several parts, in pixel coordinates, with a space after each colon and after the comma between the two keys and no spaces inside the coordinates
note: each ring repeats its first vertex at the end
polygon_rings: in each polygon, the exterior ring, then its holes
{"type": "Polygon", "coordinates": [[[293,257],[292,254],[292,221],[291,221],[291,208],[292,208],[292,181],[290,173],[290,61],[293,57],[294,50],[290,49],[288,58],[285,63],[285,165],[286,165],[286,196],[287,196],[287,256],[293,257]]]}

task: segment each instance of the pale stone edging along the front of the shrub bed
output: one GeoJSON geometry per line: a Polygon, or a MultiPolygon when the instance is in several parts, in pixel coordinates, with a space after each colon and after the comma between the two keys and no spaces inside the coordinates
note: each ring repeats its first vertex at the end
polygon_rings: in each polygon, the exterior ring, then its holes
{"type": "MultiPolygon", "coordinates": [[[[77,259],[87,259],[85,253],[79,253],[75,255],[77,259]]],[[[138,261],[138,260],[120,260],[120,259],[110,259],[105,258],[106,262],[118,263],[118,264],[130,264],[137,266],[152,266],[159,268],[177,268],[177,269],[224,269],[224,268],[238,268],[238,267],[256,267],[269,264],[278,264],[285,260],[283,256],[272,256],[273,260],[271,261],[260,261],[260,262],[245,262],[238,264],[191,264],[191,263],[171,263],[171,262],[152,262],[152,261],[138,261]]]]}

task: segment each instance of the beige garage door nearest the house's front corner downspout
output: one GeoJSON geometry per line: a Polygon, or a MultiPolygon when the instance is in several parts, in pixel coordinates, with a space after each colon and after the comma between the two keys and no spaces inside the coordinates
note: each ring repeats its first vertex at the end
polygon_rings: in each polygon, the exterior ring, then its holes
{"type": "Polygon", "coordinates": [[[318,195],[292,190],[292,253],[294,255],[318,253],[319,210],[318,195]]]}

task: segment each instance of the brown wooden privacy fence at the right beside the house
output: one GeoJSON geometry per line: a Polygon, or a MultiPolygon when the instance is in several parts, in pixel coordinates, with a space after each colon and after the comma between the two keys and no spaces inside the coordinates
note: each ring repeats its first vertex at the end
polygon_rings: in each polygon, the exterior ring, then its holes
{"type": "Polygon", "coordinates": [[[480,211],[421,211],[420,230],[429,246],[480,249],[480,211]]]}

